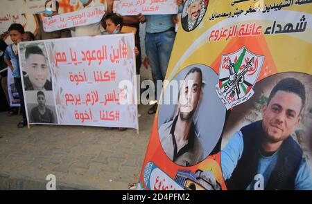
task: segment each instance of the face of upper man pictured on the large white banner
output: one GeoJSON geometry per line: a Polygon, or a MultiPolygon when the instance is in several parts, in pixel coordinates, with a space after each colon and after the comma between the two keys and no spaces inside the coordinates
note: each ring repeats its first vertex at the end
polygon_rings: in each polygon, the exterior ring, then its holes
{"type": "Polygon", "coordinates": [[[26,59],[26,72],[28,73],[31,84],[33,84],[33,89],[42,89],[48,75],[46,58],[38,54],[29,55],[26,59]]]}

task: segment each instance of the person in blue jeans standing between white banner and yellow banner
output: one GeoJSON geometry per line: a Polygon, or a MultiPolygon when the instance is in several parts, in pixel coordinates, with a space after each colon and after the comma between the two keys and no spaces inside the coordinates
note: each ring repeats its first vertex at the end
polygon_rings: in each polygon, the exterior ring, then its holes
{"type": "MultiPolygon", "coordinates": [[[[177,6],[181,6],[182,0],[177,0],[177,6]]],[[[171,50],[175,41],[176,15],[137,15],[141,23],[146,23],[145,47],[146,55],[152,69],[153,82],[155,84],[155,100],[158,98],[157,81],[163,81],[166,77],[171,50]]],[[[157,103],[149,110],[148,114],[154,114],[157,103]]]]}

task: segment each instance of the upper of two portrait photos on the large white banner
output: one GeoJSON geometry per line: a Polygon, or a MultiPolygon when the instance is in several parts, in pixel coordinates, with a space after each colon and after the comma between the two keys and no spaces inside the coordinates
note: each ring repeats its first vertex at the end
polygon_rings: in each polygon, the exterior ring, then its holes
{"type": "Polygon", "coordinates": [[[52,90],[48,55],[43,41],[19,45],[24,90],[52,90]]]}

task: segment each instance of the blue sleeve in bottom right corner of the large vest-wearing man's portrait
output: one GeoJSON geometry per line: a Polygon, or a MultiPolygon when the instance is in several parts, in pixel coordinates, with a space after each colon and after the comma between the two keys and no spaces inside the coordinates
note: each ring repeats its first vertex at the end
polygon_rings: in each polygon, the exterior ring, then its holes
{"type": "Polygon", "coordinates": [[[311,169],[306,164],[304,158],[300,162],[300,167],[295,178],[295,190],[312,190],[311,169]]]}

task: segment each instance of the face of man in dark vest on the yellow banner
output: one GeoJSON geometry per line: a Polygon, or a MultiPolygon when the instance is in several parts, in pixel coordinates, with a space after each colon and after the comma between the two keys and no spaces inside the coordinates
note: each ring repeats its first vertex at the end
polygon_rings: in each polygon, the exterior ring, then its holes
{"type": "Polygon", "coordinates": [[[302,100],[299,95],[277,91],[269,104],[263,106],[263,131],[272,143],[285,140],[300,122],[302,100]]]}

